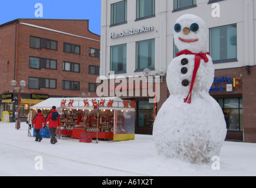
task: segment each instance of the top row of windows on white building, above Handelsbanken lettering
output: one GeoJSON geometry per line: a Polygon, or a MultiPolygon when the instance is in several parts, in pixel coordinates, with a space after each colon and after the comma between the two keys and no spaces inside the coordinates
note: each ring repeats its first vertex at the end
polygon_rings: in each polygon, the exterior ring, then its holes
{"type": "MultiPolygon", "coordinates": [[[[209,0],[209,3],[223,0],[209,0]]],[[[173,0],[173,11],[196,6],[196,0],[173,0]]],[[[136,21],[155,16],[155,0],[137,0],[136,21]]],[[[111,4],[111,26],[127,23],[127,0],[111,4]]]]}

